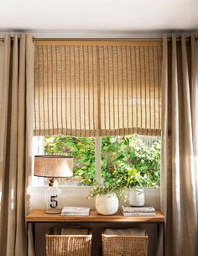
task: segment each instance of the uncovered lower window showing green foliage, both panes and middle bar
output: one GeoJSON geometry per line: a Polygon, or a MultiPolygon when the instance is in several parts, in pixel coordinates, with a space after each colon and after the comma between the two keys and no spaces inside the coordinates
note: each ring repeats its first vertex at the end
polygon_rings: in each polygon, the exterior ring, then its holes
{"type": "MultiPolygon", "coordinates": [[[[35,136],[34,153],[69,155],[74,157],[74,177],[60,179],[70,186],[112,184],[120,179],[126,184],[126,173],[137,169],[147,187],[160,182],[160,139],[154,136],[35,136]]],[[[47,184],[48,179],[35,178],[35,185],[47,184]]]]}

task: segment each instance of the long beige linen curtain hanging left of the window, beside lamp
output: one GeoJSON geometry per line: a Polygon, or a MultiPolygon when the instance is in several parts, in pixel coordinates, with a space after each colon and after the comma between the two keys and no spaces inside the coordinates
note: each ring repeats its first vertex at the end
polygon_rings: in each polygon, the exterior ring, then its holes
{"type": "MultiPolygon", "coordinates": [[[[30,35],[4,38],[0,112],[1,255],[26,255],[33,136],[34,43],[30,35]]],[[[31,248],[31,247],[29,247],[31,248]]],[[[29,255],[32,255],[31,253],[29,255]]]]}

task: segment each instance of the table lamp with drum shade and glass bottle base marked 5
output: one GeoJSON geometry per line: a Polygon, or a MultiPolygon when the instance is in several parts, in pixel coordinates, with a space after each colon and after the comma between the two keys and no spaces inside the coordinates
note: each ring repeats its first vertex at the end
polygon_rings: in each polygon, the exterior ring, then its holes
{"type": "Polygon", "coordinates": [[[61,191],[55,178],[73,176],[73,157],[34,156],[34,176],[50,178],[45,190],[45,213],[60,213],[61,191]]]}

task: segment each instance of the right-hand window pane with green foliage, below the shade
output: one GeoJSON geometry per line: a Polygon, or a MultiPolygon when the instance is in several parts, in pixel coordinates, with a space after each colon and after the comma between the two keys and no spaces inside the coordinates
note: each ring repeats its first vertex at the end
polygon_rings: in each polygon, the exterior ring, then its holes
{"type": "Polygon", "coordinates": [[[128,171],[135,169],[143,177],[143,186],[160,183],[160,137],[113,136],[102,138],[102,179],[127,184],[128,171]]]}

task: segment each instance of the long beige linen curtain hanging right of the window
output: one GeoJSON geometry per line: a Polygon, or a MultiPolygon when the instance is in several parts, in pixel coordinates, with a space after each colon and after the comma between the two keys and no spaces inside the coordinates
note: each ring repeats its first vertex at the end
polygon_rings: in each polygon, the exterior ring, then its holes
{"type": "Polygon", "coordinates": [[[198,252],[198,43],[163,40],[161,210],[166,255],[198,252]]]}

